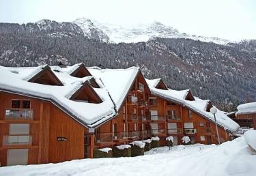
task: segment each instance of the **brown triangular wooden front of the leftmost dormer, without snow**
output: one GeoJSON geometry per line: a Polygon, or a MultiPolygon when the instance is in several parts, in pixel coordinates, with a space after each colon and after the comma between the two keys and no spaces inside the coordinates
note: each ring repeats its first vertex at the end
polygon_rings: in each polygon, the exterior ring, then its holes
{"type": "Polygon", "coordinates": [[[31,83],[38,83],[42,85],[63,85],[49,66],[46,66],[41,72],[33,76],[28,81],[31,83]]]}

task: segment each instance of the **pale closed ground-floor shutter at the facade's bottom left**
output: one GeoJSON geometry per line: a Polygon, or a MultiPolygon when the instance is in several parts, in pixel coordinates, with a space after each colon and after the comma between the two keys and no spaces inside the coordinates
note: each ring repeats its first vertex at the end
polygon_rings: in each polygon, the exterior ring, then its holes
{"type": "Polygon", "coordinates": [[[27,165],[29,149],[8,149],[7,166],[27,165]]]}

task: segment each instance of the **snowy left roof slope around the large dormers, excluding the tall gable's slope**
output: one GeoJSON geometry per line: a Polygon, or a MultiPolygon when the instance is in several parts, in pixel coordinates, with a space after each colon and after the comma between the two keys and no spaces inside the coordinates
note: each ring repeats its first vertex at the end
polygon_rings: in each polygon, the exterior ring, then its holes
{"type": "Polygon", "coordinates": [[[89,80],[88,77],[76,78],[61,71],[61,68],[55,67],[55,70],[58,70],[55,74],[57,78],[63,81],[63,86],[40,85],[23,79],[29,78],[29,74],[35,73],[35,70],[38,72],[38,67],[5,68],[0,66],[0,91],[48,100],[87,128],[93,128],[99,123],[103,123],[117,115],[115,106],[105,87],[93,88],[90,86],[91,90],[94,89],[102,100],[98,104],[79,102],[66,98],[71,90],[81,85],[81,82],[89,80]]]}

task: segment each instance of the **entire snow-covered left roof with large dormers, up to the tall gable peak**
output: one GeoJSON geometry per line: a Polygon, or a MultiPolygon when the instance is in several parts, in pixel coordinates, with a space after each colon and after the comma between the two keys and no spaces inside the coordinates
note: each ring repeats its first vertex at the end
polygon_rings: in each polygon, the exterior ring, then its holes
{"type": "Polygon", "coordinates": [[[126,93],[137,76],[139,68],[117,70],[90,68],[90,72],[96,76],[97,83],[101,82],[101,88],[91,87],[102,99],[101,103],[94,104],[70,100],[72,94],[92,78],[92,76],[84,78],[70,76],[70,73],[76,70],[80,64],[68,68],[50,67],[63,86],[42,85],[27,81],[48,65],[31,68],[0,66],[0,90],[51,100],[87,128],[94,128],[117,115],[116,108],[119,108],[126,98],[126,93]]]}

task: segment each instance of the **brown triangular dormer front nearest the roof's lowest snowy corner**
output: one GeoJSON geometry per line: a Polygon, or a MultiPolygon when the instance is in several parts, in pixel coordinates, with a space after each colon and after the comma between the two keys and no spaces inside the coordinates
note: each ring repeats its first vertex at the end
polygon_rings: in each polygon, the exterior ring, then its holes
{"type": "Polygon", "coordinates": [[[89,102],[89,103],[101,103],[102,100],[94,91],[94,89],[89,85],[89,83],[85,83],[80,89],[78,89],[70,98],[70,100],[74,100],[77,102],[89,102]]]}

